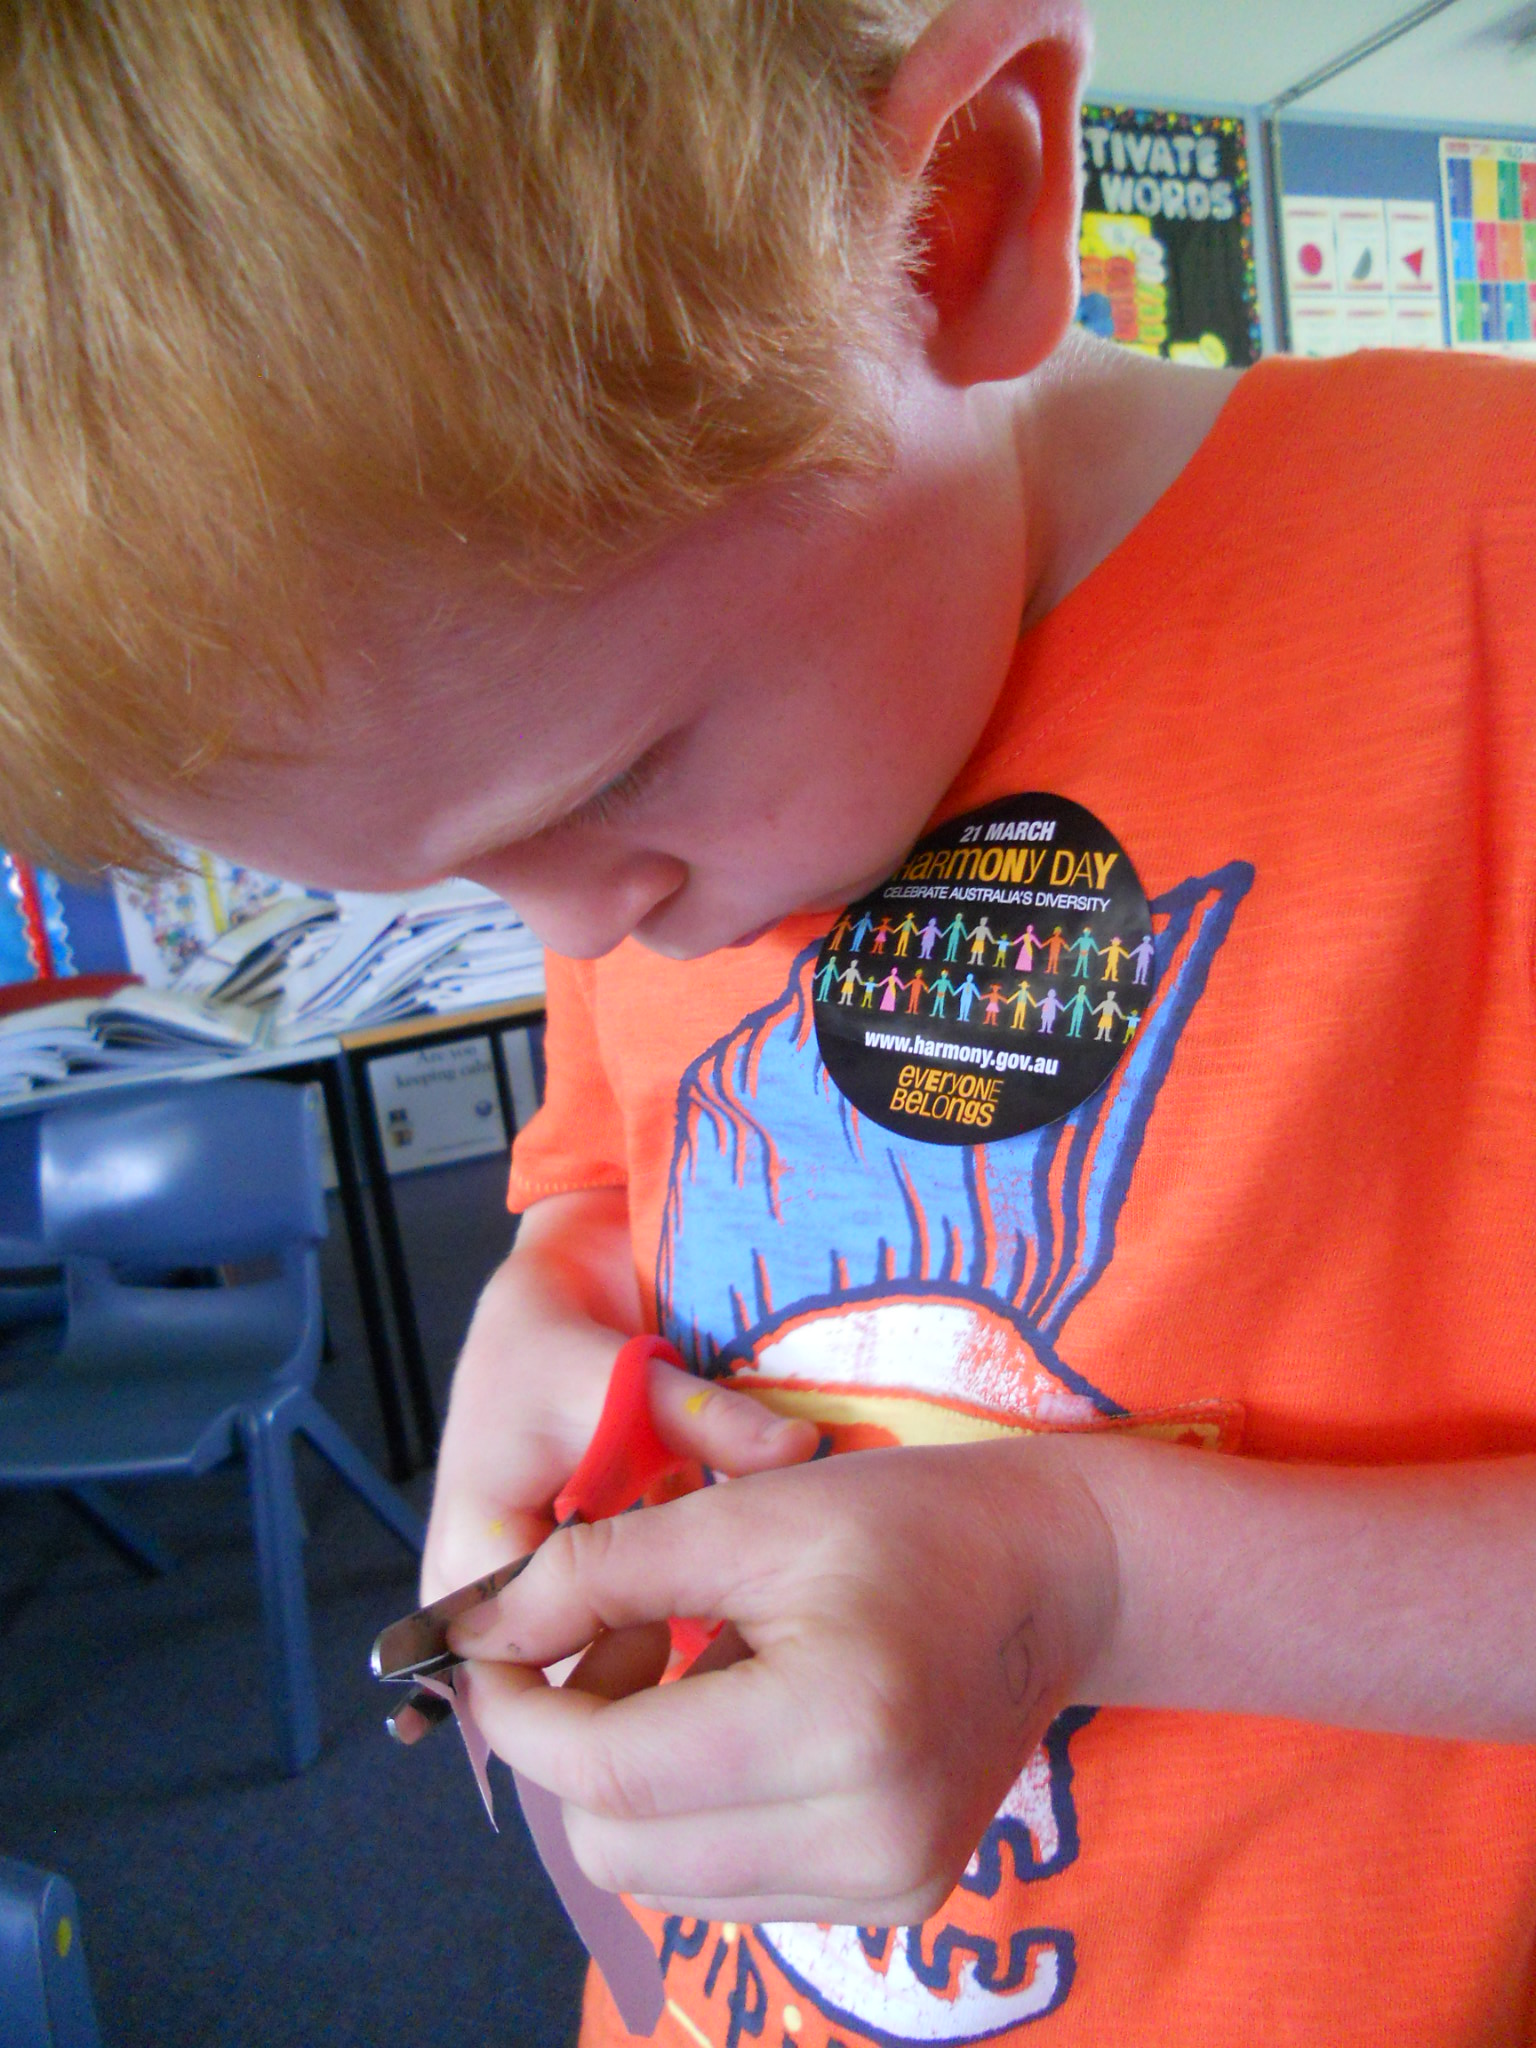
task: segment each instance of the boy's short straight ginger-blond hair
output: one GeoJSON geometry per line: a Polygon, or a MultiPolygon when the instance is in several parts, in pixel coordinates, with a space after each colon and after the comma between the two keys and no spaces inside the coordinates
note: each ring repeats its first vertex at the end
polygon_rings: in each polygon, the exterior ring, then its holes
{"type": "Polygon", "coordinates": [[[567,580],[879,463],[936,0],[20,0],[0,29],[0,842],[152,858],[311,686],[328,541],[567,580]]]}

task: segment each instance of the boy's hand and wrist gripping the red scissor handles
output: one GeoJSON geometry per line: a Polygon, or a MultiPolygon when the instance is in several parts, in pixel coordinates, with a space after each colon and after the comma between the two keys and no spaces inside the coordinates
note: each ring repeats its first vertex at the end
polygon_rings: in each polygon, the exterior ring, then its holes
{"type": "MultiPolygon", "coordinates": [[[[596,1192],[541,1204],[492,1276],[453,1380],[422,1599],[549,1534],[549,1503],[598,1425],[625,1333],[641,1327],[633,1278],[625,1298],[627,1260],[623,1196],[596,1192]]],[[[649,1391],[662,1438],[717,1470],[756,1473],[815,1450],[811,1423],[780,1421],[674,1366],[651,1362],[649,1391]]]]}

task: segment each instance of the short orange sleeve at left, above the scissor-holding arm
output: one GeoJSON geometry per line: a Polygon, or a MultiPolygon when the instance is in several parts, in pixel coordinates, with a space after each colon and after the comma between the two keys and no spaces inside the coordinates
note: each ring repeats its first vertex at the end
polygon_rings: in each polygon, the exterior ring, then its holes
{"type": "Polygon", "coordinates": [[[545,956],[545,1100],[512,1145],[514,1214],[551,1194],[623,1188],[625,1126],[598,1051],[592,963],[545,956]]]}

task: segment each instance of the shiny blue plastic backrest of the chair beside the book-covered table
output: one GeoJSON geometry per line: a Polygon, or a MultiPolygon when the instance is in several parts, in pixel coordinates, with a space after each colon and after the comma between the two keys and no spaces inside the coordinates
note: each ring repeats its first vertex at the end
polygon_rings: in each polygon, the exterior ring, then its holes
{"type": "Polygon", "coordinates": [[[317,1133],[283,1081],[162,1081],[43,1110],[39,1235],[59,1260],[260,1260],[326,1235],[317,1133]]]}

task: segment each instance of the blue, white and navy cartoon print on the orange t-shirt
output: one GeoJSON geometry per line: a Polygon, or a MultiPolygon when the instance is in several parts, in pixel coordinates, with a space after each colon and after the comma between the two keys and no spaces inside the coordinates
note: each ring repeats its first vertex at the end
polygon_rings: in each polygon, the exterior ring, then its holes
{"type": "MultiPolygon", "coordinates": [[[[1073,1370],[1063,1333],[1114,1257],[1159,1087],[1251,881],[1233,862],[1153,903],[1157,991],[1124,1061],[1069,1118],[1001,1145],[924,1145],[862,1118],[817,1057],[815,948],[801,952],[782,993],[682,1079],[664,1333],[709,1376],[811,1415],[834,1450],[1114,1425],[1231,1444],[1214,1405],[1126,1415],[1073,1370]]],[[[1049,1880],[1092,1853],[1071,1794],[1090,1712],[1053,1722],[922,1927],[657,1923],[668,1995],[698,2040],[737,2048],[784,2001],[799,2048],[961,2048],[1055,2011],[1075,1948],[1049,1923],[1049,1880]]]]}

